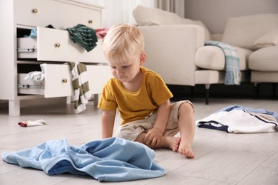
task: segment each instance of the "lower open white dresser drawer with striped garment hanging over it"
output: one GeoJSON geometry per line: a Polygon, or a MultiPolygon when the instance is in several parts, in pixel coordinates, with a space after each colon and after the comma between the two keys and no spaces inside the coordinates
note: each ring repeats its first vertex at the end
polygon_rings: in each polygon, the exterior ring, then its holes
{"type": "MultiPolygon", "coordinates": [[[[86,65],[88,83],[92,94],[101,94],[105,83],[111,78],[108,65],[86,65]]],[[[18,75],[18,93],[44,95],[44,97],[67,97],[73,95],[72,75],[67,64],[43,64],[45,78],[41,82],[24,80],[26,74],[18,75]]]]}

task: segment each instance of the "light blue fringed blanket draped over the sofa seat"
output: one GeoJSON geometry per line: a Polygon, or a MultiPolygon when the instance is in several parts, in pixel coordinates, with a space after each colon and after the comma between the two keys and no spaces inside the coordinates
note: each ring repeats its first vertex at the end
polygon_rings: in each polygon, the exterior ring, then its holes
{"type": "Polygon", "coordinates": [[[225,55],[225,85],[240,85],[240,58],[232,46],[219,41],[205,41],[205,46],[217,46],[225,55]]]}

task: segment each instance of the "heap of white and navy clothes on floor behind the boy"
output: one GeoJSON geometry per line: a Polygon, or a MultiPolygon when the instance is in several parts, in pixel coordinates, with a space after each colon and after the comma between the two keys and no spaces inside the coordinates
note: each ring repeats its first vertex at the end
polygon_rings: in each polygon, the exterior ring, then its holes
{"type": "Polygon", "coordinates": [[[233,133],[275,132],[278,114],[263,109],[231,105],[196,121],[197,127],[233,133]]]}

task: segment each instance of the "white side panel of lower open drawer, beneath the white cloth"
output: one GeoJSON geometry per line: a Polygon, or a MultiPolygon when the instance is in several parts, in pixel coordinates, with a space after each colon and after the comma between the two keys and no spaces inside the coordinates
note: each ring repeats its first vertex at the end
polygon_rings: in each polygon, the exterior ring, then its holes
{"type": "Polygon", "coordinates": [[[44,95],[44,80],[36,82],[34,80],[24,80],[27,74],[18,74],[18,93],[27,95],[44,95]]]}

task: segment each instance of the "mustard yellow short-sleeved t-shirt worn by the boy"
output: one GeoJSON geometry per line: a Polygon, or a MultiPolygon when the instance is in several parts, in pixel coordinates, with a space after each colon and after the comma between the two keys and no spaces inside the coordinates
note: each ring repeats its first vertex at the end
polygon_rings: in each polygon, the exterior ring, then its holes
{"type": "Polygon", "coordinates": [[[120,80],[111,78],[105,84],[98,102],[98,108],[102,110],[116,110],[118,107],[122,125],[156,113],[158,105],[173,97],[160,75],[144,67],[140,67],[140,70],[143,82],[137,92],[126,90],[120,80]]]}

